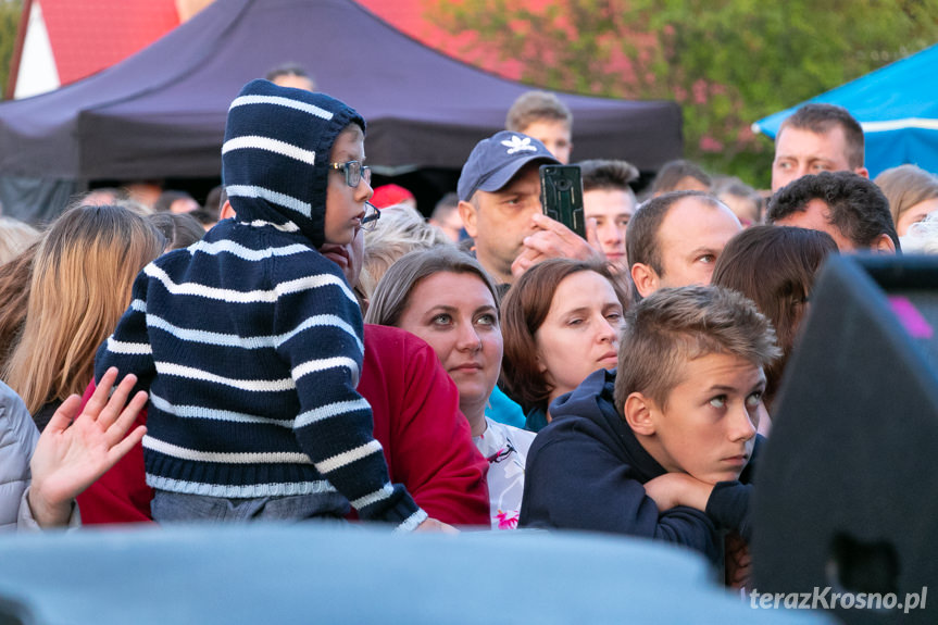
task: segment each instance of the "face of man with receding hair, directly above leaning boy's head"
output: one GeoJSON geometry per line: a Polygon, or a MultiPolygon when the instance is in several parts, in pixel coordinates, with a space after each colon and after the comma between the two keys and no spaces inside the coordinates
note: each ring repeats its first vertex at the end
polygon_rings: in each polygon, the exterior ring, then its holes
{"type": "Polygon", "coordinates": [[[693,197],[677,201],[658,230],[662,268],[658,288],[709,285],[716,259],[741,229],[736,215],[722,204],[693,197]]]}

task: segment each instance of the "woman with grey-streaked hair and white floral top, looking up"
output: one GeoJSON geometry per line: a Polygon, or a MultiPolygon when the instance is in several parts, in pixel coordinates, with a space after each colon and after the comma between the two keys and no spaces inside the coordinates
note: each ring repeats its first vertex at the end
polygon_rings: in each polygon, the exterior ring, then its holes
{"type": "Polygon", "coordinates": [[[460,411],[489,462],[492,528],[513,529],[521,514],[529,432],[485,414],[501,370],[498,291],[478,261],[448,246],[411,252],[375,288],[365,323],[405,329],[434,349],[455,383],[460,411]]]}

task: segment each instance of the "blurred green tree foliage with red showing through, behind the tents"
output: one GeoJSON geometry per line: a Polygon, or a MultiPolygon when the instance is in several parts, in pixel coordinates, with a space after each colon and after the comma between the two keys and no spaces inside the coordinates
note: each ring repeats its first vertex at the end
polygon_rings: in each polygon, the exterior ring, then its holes
{"type": "Polygon", "coordinates": [[[752,122],[938,41],[938,0],[426,0],[481,65],[531,85],[674,99],[686,157],[767,187],[752,122]]]}

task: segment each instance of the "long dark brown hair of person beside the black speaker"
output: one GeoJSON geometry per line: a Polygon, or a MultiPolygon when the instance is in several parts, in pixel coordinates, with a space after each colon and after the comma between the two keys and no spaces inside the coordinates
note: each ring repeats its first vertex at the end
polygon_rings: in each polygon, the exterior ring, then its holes
{"type": "Polygon", "coordinates": [[[770,412],[808,308],[814,276],[831,253],[837,253],[837,243],[827,233],[753,226],[733,237],[716,261],[713,284],[751,299],[775,327],[781,358],[766,367],[762,396],[770,412]]]}

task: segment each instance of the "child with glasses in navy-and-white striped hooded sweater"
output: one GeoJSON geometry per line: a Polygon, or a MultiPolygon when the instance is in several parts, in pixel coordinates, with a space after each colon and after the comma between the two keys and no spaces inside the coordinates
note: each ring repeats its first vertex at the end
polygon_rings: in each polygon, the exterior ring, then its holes
{"type": "MultiPolygon", "coordinates": [[[[362,316],[339,266],[371,197],[364,120],[254,80],[228,110],[222,177],[236,218],[147,265],[101,346],[149,390],[157,521],[341,517],[414,529],[355,391],[362,316]]],[[[429,525],[425,525],[428,527],[429,525]]]]}

